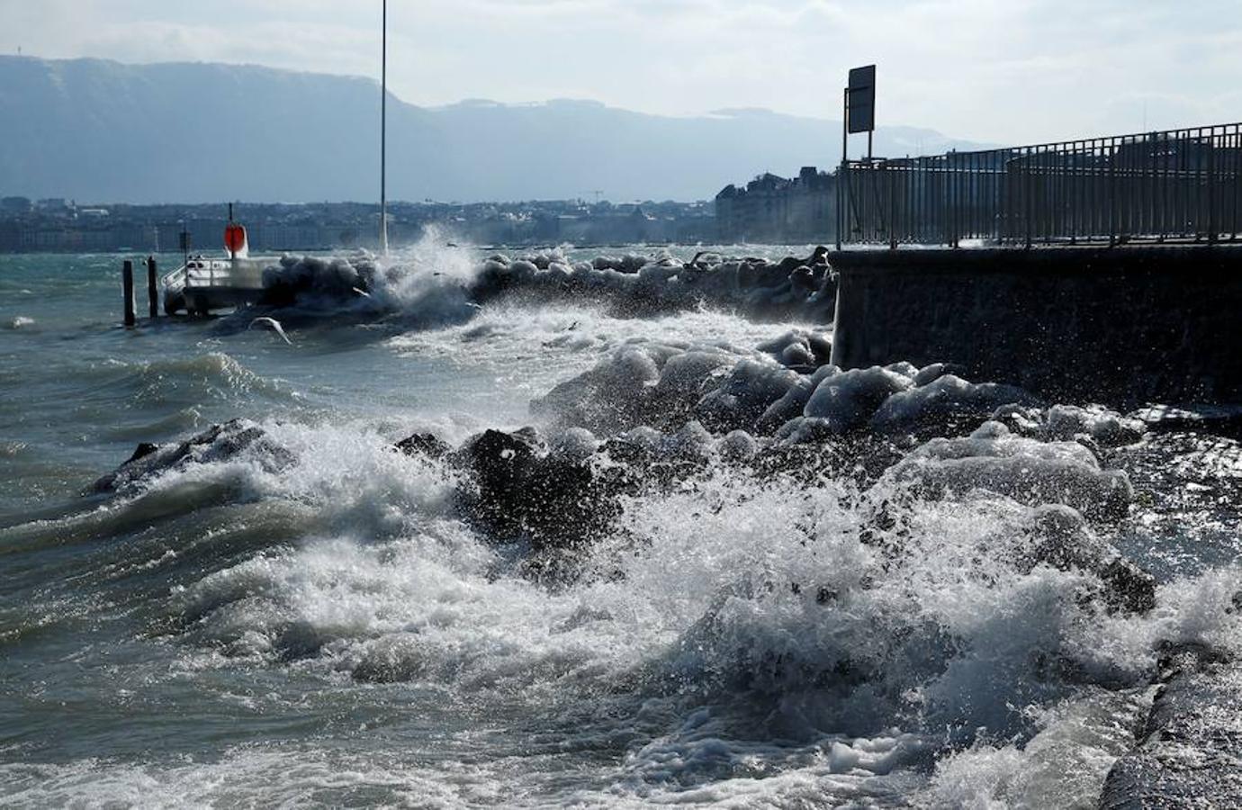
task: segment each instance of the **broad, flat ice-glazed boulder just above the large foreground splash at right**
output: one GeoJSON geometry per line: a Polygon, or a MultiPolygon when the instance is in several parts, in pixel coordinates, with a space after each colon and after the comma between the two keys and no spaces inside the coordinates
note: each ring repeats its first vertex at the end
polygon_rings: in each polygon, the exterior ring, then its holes
{"type": "Polygon", "coordinates": [[[925,497],[986,491],[1027,506],[1062,503],[1092,518],[1124,516],[1133,499],[1126,475],[1102,470],[1077,442],[1041,442],[986,422],[965,439],[934,439],[889,471],[925,497]]]}

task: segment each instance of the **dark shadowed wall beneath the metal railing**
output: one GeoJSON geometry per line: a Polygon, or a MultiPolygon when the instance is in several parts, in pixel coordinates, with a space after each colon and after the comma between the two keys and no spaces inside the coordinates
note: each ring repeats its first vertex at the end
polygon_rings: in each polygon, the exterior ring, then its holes
{"type": "Polygon", "coordinates": [[[1242,246],[843,251],[833,363],[1117,404],[1242,403],[1242,246]]]}

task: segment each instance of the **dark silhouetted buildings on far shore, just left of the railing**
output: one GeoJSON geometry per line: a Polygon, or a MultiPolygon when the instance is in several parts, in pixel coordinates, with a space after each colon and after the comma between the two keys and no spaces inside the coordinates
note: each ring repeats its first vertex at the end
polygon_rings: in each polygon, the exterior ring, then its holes
{"type": "Polygon", "coordinates": [[[836,175],[815,166],[792,180],[763,174],[715,195],[717,234],[725,243],[826,243],[836,239],[836,175]]]}

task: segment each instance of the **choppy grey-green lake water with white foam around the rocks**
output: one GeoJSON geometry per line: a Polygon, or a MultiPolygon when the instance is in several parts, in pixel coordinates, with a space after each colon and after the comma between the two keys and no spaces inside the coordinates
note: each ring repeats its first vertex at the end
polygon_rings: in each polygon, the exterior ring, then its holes
{"type": "MultiPolygon", "coordinates": [[[[441,278],[474,258],[407,261],[441,278]]],[[[627,503],[651,550],[587,560],[622,576],[548,586],[462,519],[456,473],[391,442],[529,424],[622,345],[741,357],[791,324],[532,301],[433,318],[411,296],[287,321],[288,345],[246,317],[120,328],[119,287],[116,256],[0,257],[6,804],[1089,806],[1158,644],[1237,637],[1217,610],[1236,446],[1114,458],[1140,497],[1102,530],[1163,583],[1143,617],[1088,617],[1074,576],[980,560],[1012,504],[915,504],[918,559],[877,573],[852,483],[724,472],[627,503]],[[138,442],[233,417],[298,463],[91,492],[138,442]],[[862,570],[874,586],[840,608],[771,586],[862,570]]]]}

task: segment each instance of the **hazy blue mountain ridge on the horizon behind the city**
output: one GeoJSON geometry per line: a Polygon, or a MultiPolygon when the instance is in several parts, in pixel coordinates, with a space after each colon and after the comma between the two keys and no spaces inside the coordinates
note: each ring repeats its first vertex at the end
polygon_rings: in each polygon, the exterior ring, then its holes
{"type": "MultiPolygon", "coordinates": [[[[0,57],[0,196],[371,200],[379,87],[219,63],[0,57]]],[[[389,103],[389,195],[443,201],[710,199],[840,160],[840,122],[733,109],[674,118],[558,99],[389,103]]],[[[877,154],[974,144],[887,127],[877,154]]]]}

